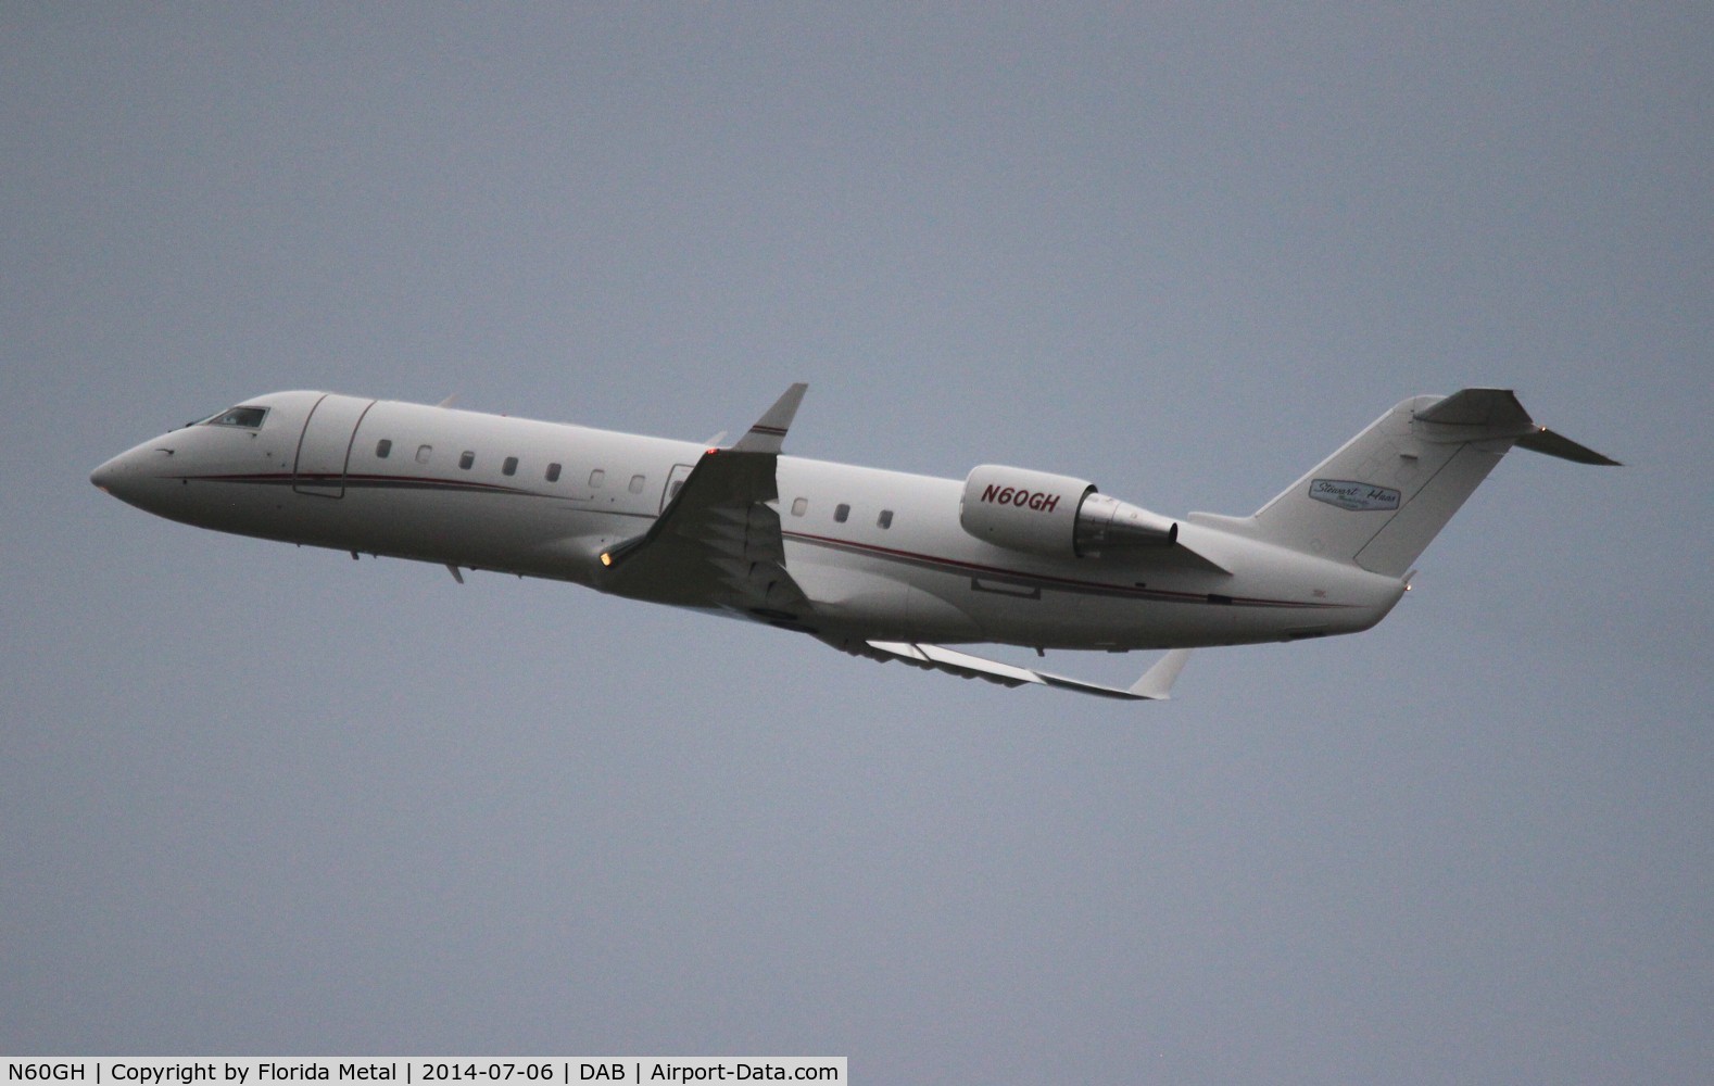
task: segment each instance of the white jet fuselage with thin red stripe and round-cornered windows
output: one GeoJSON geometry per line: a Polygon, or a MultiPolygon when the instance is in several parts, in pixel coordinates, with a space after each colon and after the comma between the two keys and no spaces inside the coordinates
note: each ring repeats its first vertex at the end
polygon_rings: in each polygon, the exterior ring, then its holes
{"type": "MultiPolygon", "coordinates": [[[[168,432],[93,478],[199,528],[723,606],[682,582],[619,589],[603,576],[603,555],[662,517],[703,445],[324,392],[242,409],[259,415],[168,432]]],[[[780,456],[776,483],[785,565],[814,608],[812,625],[790,625],[828,639],[1244,644],[1364,630],[1405,589],[1217,519],[1181,521],[1172,550],[1046,557],[974,538],[960,480],[780,456]]]]}

